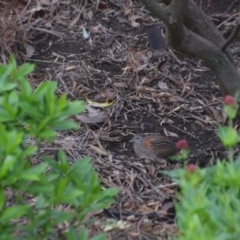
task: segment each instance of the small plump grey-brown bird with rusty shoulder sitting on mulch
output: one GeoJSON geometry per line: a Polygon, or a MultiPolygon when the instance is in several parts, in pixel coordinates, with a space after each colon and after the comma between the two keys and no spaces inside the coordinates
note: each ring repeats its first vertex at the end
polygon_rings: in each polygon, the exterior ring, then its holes
{"type": "Polygon", "coordinates": [[[135,135],[130,142],[134,143],[134,151],[140,158],[165,159],[178,152],[174,142],[158,134],[135,135]]]}

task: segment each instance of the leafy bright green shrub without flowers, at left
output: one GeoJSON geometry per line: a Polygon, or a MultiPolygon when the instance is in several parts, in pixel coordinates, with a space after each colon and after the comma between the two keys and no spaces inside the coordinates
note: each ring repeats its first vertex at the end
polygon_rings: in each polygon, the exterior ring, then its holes
{"type": "Polygon", "coordinates": [[[80,101],[57,97],[56,82],[33,90],[25,77],[33,69],[29,63],[17,68],[13,57],[0,65],[0,239],[88,239],[86,215],[113,202],[117,190],[101,190],[89,159],[71,165],[60,151],[59,161],[45,157],[32,165],[39,144],[53,141],[57,130],[77,129],[68,117],[84,110],[80,101]],[[29,137],[35,146],[26,144],[29,137]]]}

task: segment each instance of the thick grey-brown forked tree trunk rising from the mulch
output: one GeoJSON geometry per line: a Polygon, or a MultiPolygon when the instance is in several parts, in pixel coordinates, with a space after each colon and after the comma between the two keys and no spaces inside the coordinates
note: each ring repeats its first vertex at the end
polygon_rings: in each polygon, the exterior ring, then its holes
{"type": "Polygon", "coordinates": [[[192,0],[141,0],[166,26],[166,42],[173,49],[203,60],[216,74],[222,95],[240,91],[240,75],[226,42],[211,19],[192,0]]]}

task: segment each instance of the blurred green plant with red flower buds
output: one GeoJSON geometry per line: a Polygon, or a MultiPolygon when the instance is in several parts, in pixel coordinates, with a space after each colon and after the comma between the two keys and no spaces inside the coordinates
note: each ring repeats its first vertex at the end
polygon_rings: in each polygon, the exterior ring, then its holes
{"type": "Polygon", "coordinates": [[[194,164],[167,173],[179,183],[179,202],[175,204],[178,240],[240,239],[240,156],[233,158],[233,147],[239,135],[232,120],[238,112],[232,96],[224,99],[228,126],[219,127],[219,138],[228,148],[228,159],[200,169],[194,164]]]}

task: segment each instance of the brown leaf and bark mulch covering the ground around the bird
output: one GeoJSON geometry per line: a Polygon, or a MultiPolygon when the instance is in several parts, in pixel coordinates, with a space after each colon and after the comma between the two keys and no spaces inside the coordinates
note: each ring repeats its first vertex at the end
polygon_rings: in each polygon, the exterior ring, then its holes
{"type": "MultiPolygon", "coordinates": [[[[123,220],[122,229],[108,231],[109,239],[168,239],[177,232],[177,185],[159,170],[181,163],[139,160],[129,140],[141,132],[186,139],[189,162],[213,164],[226,155],[217,137],[226,120],[219,87],[202,61],[167,47],[149,49],[145,27],[160,24],[164,35],[164,26],[140,1],[108,0],[98,8],[97,1],[85,2],[1,1],[1,62],[14,53],[19,63],[35,63],[32,85],[56,80],[58,94],[71,100],[114,101],[104,108],[88,105],[85,115],[75,117],[80,129],[59,133],[41,153],[64,149],[74,159],[90,157],[103,187],[120,190],[115,204],[94,214],[92,234],[113,225],[113,218],[123,220]]],[[[225,35],[239,14],[239,5],[230,5],[210,13],[225,35]]],[[[230,46],[238,66],[239,41],[230,46]]]]}

